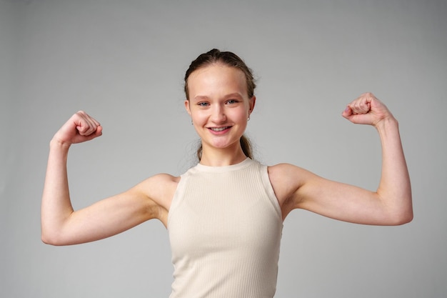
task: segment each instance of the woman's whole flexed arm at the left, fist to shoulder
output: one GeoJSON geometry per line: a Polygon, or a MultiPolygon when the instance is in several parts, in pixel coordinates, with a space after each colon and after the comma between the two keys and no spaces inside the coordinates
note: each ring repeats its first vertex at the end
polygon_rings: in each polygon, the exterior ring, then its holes
{"type": "Polygon", "coordinates": [[[113,236],[149,219],[158,218],[164,222],[165,208],[151,197],[160,197],[161,186],[174,179],[166,174],[146,179],[122,194],[74,211],[66,168],[69,147],[101,136],[101,133],[99,122],[79,111],[51,139],[41,204],[43,242],[79,244],[113,236]]]}

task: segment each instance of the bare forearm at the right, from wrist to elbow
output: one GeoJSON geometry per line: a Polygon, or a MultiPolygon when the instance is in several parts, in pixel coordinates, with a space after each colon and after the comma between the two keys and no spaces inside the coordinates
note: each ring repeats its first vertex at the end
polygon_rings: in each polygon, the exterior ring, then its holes
{"type": "Polygon", "coordinates": [[[377,194],[396,224],[413,219],[411,183],[398,121],[392,116],[376,125],[382,144],[382,172],[377,194]]]}

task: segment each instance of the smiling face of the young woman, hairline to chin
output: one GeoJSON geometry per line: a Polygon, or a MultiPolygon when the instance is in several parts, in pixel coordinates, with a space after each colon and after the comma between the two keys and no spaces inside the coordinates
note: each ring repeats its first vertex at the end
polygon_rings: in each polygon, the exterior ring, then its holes
{"type": "Polygon", "coordinates": [[[223,64],[197,69],[188,78],[186,111],[204,151],[232,149],[246,129],[256,98],[248,98],[245,74],[223,64]]]}

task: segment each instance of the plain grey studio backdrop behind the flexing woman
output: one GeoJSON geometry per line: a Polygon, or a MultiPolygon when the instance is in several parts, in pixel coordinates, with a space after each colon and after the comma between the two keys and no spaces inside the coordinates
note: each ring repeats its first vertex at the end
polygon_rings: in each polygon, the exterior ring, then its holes
{"type": "Polygon", "coordinates": [[[296,211],[276,297],[446,297],[446,1],[0,0],[0,297],[168,297],[166,230],[72,247],[40,241],[51,136],[79,109],[104,135],[73,146],[74,207],[195,163],[183,76],[213,47],[258,78],[248,135],[290,162],[376,189],[376,131],[340,114],[364,91],[400,122],[415,218],[367,227],[296,211]]]}

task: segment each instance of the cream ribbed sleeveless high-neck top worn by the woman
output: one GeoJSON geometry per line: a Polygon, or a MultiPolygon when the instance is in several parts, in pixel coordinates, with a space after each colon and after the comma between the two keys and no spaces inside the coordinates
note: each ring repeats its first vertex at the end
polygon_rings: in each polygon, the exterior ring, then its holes
{"type": "Polygon", "coordinates": [[[266,166],[189,169],[169,210],[170,298],[273,297],[282,228],[266,166]]]}

